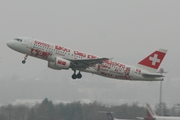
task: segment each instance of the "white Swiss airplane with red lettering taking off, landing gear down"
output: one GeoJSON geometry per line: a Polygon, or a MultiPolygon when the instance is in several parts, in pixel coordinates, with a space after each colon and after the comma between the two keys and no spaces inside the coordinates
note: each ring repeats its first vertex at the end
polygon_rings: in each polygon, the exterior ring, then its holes
{"type": "Polygon", "coordinates": [[[7,46],[23,53],[23,64],[27,57],[32,56],[46,60],[48,67],[55,70],[74,71],[72,79],[82,78],[81,72],[88,72],[108,78],[134,81],[163,81],[164,76],[157,73],[167,50],[158,49],[138,62],[127,65],[115,62],[111,58],[80,52],[61,45],[52,44],[30,37],[17,37],[7,41],[7,46]],[[76,71],[79,71],[76,74],[76,71]]]}

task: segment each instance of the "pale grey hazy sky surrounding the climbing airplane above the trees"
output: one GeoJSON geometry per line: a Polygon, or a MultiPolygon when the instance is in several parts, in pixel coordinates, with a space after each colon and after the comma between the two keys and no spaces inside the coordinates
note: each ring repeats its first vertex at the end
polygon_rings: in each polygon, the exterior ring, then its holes
{"type": "Polygon", "coordinates": [[[163,101],[180,102],[179,0],[16,0],[0,1],[0,103],[16,99],[159,102],[159,82],[114,80],[72,70],[55,71],[47,62],[6,46],[34,37],[115,61],[136,64],[156,49],[168,49],[160,67],[169,71],[163,101]]]}

